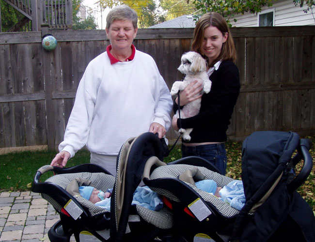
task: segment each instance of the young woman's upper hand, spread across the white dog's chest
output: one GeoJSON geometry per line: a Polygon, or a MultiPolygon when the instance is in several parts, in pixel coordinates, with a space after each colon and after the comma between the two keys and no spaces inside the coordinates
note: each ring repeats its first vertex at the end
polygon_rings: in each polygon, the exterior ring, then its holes
{"type": "MultiPolygon", "coordinates": [[[[180,98],[180,106],[184,106],[198,98],[201,98],[202,94],[200,92],[202,91],[202,83],[197,84],[197,80],[189,83],[189,85],[183,90],[179,92],[179,98],[180,98]]],[[[175,99],[175,103],[178,104],[178,97],[175,99]]],[[[177,125],[176,125],[177,126],[177,125]]]]}

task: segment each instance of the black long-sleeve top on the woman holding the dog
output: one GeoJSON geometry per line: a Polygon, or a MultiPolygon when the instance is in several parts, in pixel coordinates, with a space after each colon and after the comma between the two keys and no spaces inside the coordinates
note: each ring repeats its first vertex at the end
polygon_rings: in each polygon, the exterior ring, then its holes
{"type": "MultiPolygon", "coordinates": [[[[181,119],[182,128],[193,128],[188,143],[225,142],[227,139],[226,131],[240,90],[239,72],[232,61],[222,61],[209,79],[211,90],[202,96],[199,114],[181,119]]],[[[176,112],[177,105],[173,110],[176,112]]]]}

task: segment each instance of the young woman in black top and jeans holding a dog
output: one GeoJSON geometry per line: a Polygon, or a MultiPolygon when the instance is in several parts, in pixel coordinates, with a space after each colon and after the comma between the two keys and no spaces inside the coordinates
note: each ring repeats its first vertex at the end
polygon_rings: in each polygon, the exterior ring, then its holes
{"type": "MultiPolygon", "coordinates": [[[[207,73],[212,81],[211,91],[202,95],[199,114],[181,119],[173,117],[172,125],[178,130],[193,128],[191,140],[182,140],[183,157],[197,155],[209,160],[222,175],[226,170],[224,142],[234,106],[240,90],[239,72],[234,64],[236,50],[232,35],[224,18],[217,13],[207,13],[197,22],[191,49],[200,53],[208,63],[207,73]]],[[[200,98],[202,87],[190,84],[180,92],[180,105],[200,98]]],[[[175,99],[174,111],[177,110],[175,99]]]]}

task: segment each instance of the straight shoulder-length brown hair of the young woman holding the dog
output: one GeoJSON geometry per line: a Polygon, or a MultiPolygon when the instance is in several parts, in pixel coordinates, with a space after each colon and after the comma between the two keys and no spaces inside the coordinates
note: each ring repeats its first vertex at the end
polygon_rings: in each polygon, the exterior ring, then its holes
{"type": "Polygon", "coordinates": [[[217,27],[218,30],[221,31],[222,35],[228,33],[228,37],[225,43],[222,45],[221,53],[218,58],[212,63],[208,63],[209,66],[213,66],[217,61],[225,61],[230,60],[235,62],[236,61],[236,50],[235,45],[233,42],[233,38],[229,27],[225,21],[225,19],[218,13],[207,13],[202,15],[198,20],[194,33],[193,33],[193,40],[191,44],[191,50],[198,52],[201,54],[206,60],[208,59],[205,55],[203,55],[201,46],[204,40],[204,32],[205,29],[213,26],[217,27]]]}

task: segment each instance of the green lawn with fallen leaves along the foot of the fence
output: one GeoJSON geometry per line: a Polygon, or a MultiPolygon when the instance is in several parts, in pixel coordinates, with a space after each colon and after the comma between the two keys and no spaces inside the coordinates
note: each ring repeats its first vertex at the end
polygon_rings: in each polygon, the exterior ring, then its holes
{"type": "MultiPolygon", "coordinates": [[[[310,150],[313,161],[315,161],[315,136],[308,136],[313,141],[313,149],[310,150]]],[[[242,142],[226,142],[228,163],[226,176],[233,179],[241,179],[241,146],[242,142]]],[[[31,182],[38,168],[50,164],[56,153],[52,151],[25,151],[0,155],[0,191],[25,191],[31,189],[31,182]]],[[[164,158],[165,162],[181,158],[180,146],[175,146],[170,155],[164,158]]],[[[78,151],[75,157],[71,158],[68,166],[90,162],[90,152],[78,151]]],[[[298,166],[298,172],[301,166],[298,166]]],[[[42,176],[45,181],[52,172],[42,176]]],[[[298,189],[299,194],[308,202],[315,211],[315,166],[308,179],[298,189]]]]}

